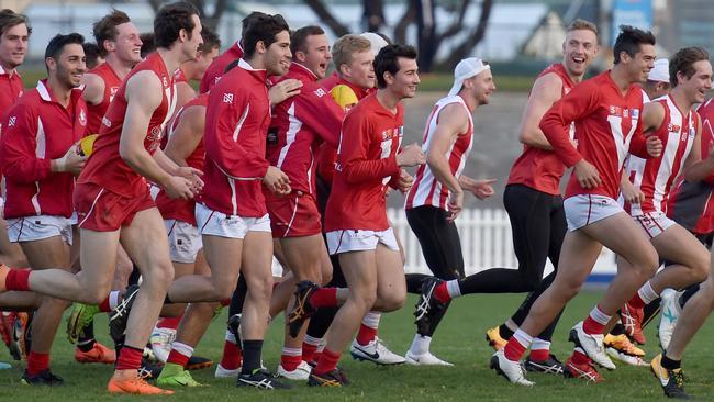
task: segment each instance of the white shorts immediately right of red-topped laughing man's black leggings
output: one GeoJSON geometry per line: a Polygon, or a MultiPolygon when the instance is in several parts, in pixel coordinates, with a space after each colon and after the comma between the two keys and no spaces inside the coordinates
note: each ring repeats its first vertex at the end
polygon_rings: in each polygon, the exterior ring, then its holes
{"type": "Polygon", "coordinates": [[[562,208],[566,211],[566,221],[568,221],[568,231],[570,232],[616,213],[625,212],[617,201],[598,194],[572,196],[562,202],[562,208]]]}

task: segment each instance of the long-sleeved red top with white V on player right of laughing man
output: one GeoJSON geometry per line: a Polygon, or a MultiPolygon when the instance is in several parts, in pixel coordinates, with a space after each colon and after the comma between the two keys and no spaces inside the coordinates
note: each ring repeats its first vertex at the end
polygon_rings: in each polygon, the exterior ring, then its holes
{"type": "Polygon", "coordinates": [[[600,194],[617,199],[627,152],[649,158],[639,115],[643,92],[631,85],[625,96],[610,77],[610,70],[585,80],[557,101],[540,120],[540,130],[562,163],[570,167],[581,159],[592,164],[602,183],[583,189],[570,175],[566,198],[600,194]],[[578,148],[570,143],[570,124],[576,123],[578,148]]]}

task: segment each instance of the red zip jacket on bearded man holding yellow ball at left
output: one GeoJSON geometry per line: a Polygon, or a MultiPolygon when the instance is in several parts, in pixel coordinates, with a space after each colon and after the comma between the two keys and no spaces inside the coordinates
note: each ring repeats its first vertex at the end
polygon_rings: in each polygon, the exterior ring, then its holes
{"type": "Polygon", "coordinates": [[[75,177],[53,172],[62,158],[87,133],[87,105],[81,90],[71,90],[69,105],[53,96],[47,80],[25,92],[3,119],[0,163],[5,176],[4,217],[71,216],[75,177]]]}

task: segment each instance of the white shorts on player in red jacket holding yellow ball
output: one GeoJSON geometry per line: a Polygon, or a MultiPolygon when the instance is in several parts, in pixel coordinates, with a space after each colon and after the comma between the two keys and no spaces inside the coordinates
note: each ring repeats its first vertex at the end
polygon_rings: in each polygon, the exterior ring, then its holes
{"type": "Polygon", "coordinates": [[[8,237],[11,243],[42,241],[62,236],[63,241],[71,245],[71,225],[77,224],[76,215],[65,216],[24,216],[12,217],[8,222],[8,237]]]}

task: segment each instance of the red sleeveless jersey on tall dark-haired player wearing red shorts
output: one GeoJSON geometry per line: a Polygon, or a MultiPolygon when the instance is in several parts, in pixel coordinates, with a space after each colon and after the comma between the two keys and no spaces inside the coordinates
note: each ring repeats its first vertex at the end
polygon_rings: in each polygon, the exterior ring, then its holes
{"type": "Polygon", "coordinates": [[[164,87],[161,103],[154,110],[144,137],[144,148],[149,154],[154,155],[158,147],[164,125],[174,114],[176,87],[174,71],[168,71],[161,56],[154,52],[137,64],[122,81],[116,97],[102,119],[94,150],[79,175],[79,183],[91,182],[126,198],[141,197],[148,191],[146,178],[126,165],[119,155],[119,142],[126,116],[126,82],[140,71],[153,71],[164,87]]]}

